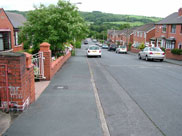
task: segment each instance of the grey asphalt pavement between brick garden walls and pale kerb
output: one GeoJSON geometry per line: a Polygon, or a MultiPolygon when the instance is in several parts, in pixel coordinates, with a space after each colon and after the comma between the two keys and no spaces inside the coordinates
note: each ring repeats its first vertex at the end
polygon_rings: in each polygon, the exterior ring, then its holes
{"type": "Polygon", "coordinates": [[[85,51],[77,54],[64,64],[39,99],[4,135],[102,135],[85,51]]]}

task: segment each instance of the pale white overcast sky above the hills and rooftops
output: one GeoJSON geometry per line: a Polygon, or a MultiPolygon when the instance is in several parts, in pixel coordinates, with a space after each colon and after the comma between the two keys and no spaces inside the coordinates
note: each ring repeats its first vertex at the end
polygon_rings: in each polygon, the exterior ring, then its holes
{"type": "MultiPolygon", "coordinates": [[[[5,10],[32,10],[33,5],[56,4],[58,0],[0,0],[5,10]]],[[[182,0],[70,0],[80,11],[166,17],[182,7],[182,0]]]]}

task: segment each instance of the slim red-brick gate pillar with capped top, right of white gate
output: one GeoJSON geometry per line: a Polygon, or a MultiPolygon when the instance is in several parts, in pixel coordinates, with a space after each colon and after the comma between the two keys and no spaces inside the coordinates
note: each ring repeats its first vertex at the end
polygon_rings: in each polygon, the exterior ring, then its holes
{"type": "Polygon", "coordinates": [[[44,76],[46,80],[51,79],[51,50],[50,44],[47,42],[43,42],[40,44],[40,51],[43,52],[45,60],[44,60],[44,76]]]}

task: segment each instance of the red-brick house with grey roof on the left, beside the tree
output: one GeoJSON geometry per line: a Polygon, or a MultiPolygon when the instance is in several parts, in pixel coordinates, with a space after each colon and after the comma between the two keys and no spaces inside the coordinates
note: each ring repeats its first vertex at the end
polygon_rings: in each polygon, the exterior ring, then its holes
{"type": "Polygon", "coordinates": [[[5,12],[0,8],[0,51],[21,51],[23,45],[18,45],[19,27],[26,18],[23,15],[5,12]]]}

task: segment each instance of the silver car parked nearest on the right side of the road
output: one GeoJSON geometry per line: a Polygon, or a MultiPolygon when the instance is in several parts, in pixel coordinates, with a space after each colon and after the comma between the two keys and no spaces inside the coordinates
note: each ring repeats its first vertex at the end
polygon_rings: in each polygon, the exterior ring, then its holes
{"type": "Polygon", "coordinates": [[[139,59],[148,60],[160,60],[163,61],[165,53],[158,47],[145,47],[143,51],[138,53],[139,59]]]}

